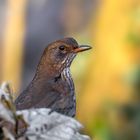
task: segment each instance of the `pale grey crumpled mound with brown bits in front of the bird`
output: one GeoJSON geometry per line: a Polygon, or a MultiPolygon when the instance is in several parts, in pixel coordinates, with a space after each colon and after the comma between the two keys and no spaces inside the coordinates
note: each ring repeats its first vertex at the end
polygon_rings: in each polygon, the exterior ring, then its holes
{"type": "Polygon", "coordinates": [[[80,134],[83,126],[75,119],[50,109],[16,111],[10,94],[0,89],[0,139],[90,140],[80,134]]]}

